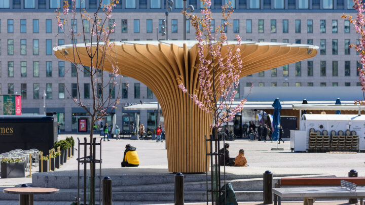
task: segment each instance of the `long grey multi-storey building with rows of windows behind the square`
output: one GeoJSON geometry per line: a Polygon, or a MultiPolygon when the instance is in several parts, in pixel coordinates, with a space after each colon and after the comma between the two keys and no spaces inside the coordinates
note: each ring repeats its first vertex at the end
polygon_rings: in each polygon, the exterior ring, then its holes
{"type": "MultiPolygon", "coordinates": [[[[96,10],[100,0],[77,0],[77,7],[89,12],[96,10]]],[[[226,0],[227,1],[227,0],[226,0]]],[[[71,3],[71,1],[69,0],[71,3]]],[[[108,0],[103,0],[108,3],[108,0]]],[[[352,0],[231,0],[235,12],[226,28],[229,40],[240,35],[243,40],[311,44],[320,47],[312,59],[274,68],[240,79],[240,97],[243,88],[255,87],[319,87],[358,86],[356,51],[348,48],[356,44],[358,35],[349,21],[341,19],[342,13],[355,14],[352,0]]],[[[182,39],[182,0],[175,0],[167,24],[171,40],[182,39]]],[[[214,26],[221,24],[220,8],[225,1],[213,0],[214,26]]],[[[195,12],[202,6],[190,0],[195,12]]],[[[86,117],[85,110],[77,107],[65,91],[72,94],[77,81],[71,63],[60,61],[52,48],[71,44],[64,34],[58,33],[57,7],[62,0],[1,0],[0,1],[0,92],[22,94],[23,114],[43,113],[43,92],[46,92],[47,111],[59,115],[61,129],[77,130],[77,119],[86,117]],[[65,72],[69,70],[69,72],[65,72]]],[[[111,38],[121,40],[165,39],[161,35],[162,20],[165,19],[165,1],[122,0],[114,10],[116,22],[111,38]],[[158,32],[156,30],[159,30],[158,32]]],[[[81,29],[81,19],[77,19],[81,29]]],[[[187,39],[194,40],[195,29],[187,23],[187,39]]],[[[83,39],[79,39],[80,41],[83,39]]],[[[81,43],[81,42],[79,42],[81,43]]],[[[108,73],[104,73],[108,76],[108,73]]],[[[81,91],[87,101],[90,87],[87,79],[81,79],[81,91]]],[[[127,111],[122,107],[134,103],[157,101],[151,90],[137,80],[122,79],[123,96],[115,113],[117,125],[128,130],[139,114],[140,121],[147,127],[155,126],[155,110],[127,111]],[[129,87],[126,87],[126,83],[129,87]]],[[[310,88],[308,88],[310,89],[310,88]]],[[[237,95],[238,97],[238,95],[237,95]]],[[[301,100],[301,99],[299,99],[301,100]]],[[[111,122],[111,117],[106,121],[111,122]]]]}

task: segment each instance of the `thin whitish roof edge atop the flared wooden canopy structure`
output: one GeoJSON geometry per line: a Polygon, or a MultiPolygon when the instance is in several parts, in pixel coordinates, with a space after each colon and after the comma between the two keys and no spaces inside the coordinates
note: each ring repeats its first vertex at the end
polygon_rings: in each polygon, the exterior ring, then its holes
{"type": "MultiPolygon", "coordinates": [[[[116,46],[122,45],[155,45],[158,46],[160,44],[163,45],[176,45],[180,48],[184,47],[184,45],[191,49],[198,43],[197,40],[126,40],[120,42],[114,42],[116,46]]],[[[104,42],[100,42],[99,45],[103,45],[104,42]]],[[[236,45],[237,40],[228,40],[227,45],[236,45]]],[[[85,48],[85,43],[75,44],[76,47],[85,48]]],[[[86,43],[87,46],[91,46],[91,43],[86,43]]],[[[96,46],[96,43],[92,44],[96,46]]],[[[308,48],[312,50],[318,50],[318,46],[308,45],[308,44],[290,44],[290,43],[280,43],[280,42],[252,42],[252,41],[242,41],[241,45],[258,45],[258,46],[282,46],[282,47],[299,47],[299,48],[308,48]]],[[[63,50],[72,48],[72,44],[56,46],[53,48],[53,51],[63,50]]]]}

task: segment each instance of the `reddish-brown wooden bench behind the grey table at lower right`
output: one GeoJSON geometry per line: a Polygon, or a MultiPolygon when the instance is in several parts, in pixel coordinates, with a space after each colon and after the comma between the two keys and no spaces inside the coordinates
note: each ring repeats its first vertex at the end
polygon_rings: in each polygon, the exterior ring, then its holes
{"type": "MultiPolygon", "coordinates": [[[[301,187],[301,186],[341,186],[341,180],[355,183],[357,186],[365,186],[365,177],[308,177],[308,178],[279,178],[275,188],[301,187]]],[[[281,198],[274,194],[274,204],[281,204],[281,198]]]]}

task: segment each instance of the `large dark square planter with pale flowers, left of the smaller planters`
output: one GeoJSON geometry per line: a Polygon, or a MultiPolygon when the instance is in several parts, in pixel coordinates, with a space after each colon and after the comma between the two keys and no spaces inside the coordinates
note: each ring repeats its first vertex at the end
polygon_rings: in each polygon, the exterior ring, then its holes
{"type": "Polygon", "coordinates": [[[19,158],[3,158],[1,160],[1,178],[25,177],[25,163],[19,158]]]}

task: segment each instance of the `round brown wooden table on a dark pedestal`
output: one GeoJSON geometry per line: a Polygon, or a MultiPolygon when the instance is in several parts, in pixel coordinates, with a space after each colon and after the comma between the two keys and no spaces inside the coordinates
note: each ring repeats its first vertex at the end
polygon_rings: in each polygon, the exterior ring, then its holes
{"type": "Polygon", "coordinates": [[[59,189],[42,187],[14,187],[4,189],[4,193],[19,194],[20,205],[33,205],[33,194],[53,194],[59,189]]]}

